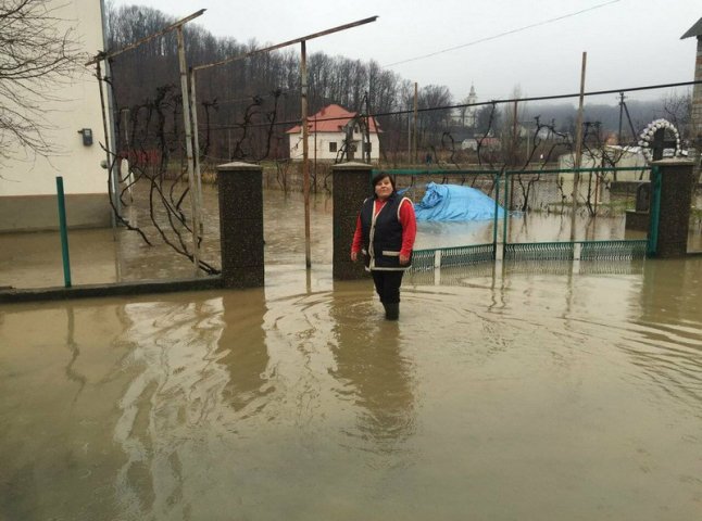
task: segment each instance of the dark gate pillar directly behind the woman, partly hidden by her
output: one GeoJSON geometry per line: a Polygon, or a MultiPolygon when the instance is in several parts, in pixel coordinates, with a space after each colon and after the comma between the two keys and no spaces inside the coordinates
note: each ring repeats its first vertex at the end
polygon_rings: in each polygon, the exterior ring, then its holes
{"type": "Polygon", "coordinates": [[[364,278],[363,263],[352,263],[351,242],[363,201],[372,195],[371,165],[342,163],[331,169],[334,205],[334,255],[331,275],[335,280],[364,278]]]}

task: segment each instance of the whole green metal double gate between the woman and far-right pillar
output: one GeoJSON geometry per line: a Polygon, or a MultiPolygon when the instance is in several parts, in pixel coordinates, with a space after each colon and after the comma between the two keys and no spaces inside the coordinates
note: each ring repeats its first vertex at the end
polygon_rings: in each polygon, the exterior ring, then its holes
{"type": "Polygon", "coordinates": [[[455,228],[448,233],[440,230],[435,234],[422,234],[424,224],[419,223],[413,271],[497,259],[636,259],[655,251],[660,204],[656,190],[660,174],[655,167],[384,171],[394,176],[398,189],[408,189],[414,202],[424,195],[424,187],[429,181],[476,188],[496,202],[496,217],[487,224],[487,230],[467,240],[455,233],[455,228]],[[636,207],[632,187],[649,181],[652,188],[648,212],[651,231],[629,231],[625,227],[625,215],[626,211],[636,207]],[[499,206],[505,209],[503,219],[497,212],[499,206]]]}

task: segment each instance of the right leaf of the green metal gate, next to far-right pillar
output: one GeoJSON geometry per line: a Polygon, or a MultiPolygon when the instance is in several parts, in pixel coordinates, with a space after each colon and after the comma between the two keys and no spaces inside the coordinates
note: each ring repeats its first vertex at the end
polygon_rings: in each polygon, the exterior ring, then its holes
{"type": "MultiPolygon", "coordinates": [[[[626,212],[636,209],[636,191],[615,190],[657,179],[651,167],[599,167],[504,173],[509,217],[503,221],[504,260],[616,260],[643,258],[651,251],[648,231],[626,229],[626,212]],[[546,218],[535,218],[535,216],[546,218]],[[541,229],[519,233],[518,220],[541,229]],[[562,226],[552,230],[548,221],[562,226]],[[515,230],[516,229],[516,230],[515,230]],[[516,231],[516,232],[515,232],[516,231]]],[[[651,190],[649,229],[657,230],[659,191],[651,190]]],[[[655,240],[655,238],[653,238],[655,240]]],[[[654,243],[653,243],[654,244],[654,243]]]]}

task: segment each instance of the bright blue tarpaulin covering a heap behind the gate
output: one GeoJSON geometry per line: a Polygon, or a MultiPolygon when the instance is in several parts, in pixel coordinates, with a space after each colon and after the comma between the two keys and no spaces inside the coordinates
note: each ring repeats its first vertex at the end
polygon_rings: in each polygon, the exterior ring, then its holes
{"type": "Polygon", "coordinates": [[[417,220],[487,220],[504,217],[504,208],[480,190],[460,185],[427,183],[422,201],[414,205],[417,220]]]}

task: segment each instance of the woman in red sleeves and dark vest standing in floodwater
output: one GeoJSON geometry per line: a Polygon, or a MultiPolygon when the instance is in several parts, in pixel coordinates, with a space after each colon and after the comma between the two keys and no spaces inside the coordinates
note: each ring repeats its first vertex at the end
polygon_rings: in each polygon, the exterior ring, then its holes
{"type": "Polygon", "coordinates": [[[417,232],[414,205],[394,190],[394,180],[380,171],[372,180],[374,196],[366,199],[356,219],[351,260],[362,252],[375,291],[385,308],[385,318],[400,316],[400,284],[411,266],[417,232]]]}

